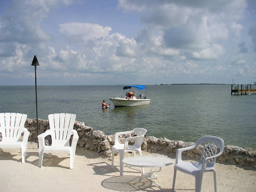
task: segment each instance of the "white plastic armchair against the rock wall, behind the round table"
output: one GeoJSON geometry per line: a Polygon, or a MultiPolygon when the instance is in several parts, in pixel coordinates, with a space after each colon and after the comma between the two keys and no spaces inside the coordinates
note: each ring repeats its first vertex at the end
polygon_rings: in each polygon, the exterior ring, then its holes
{"type": "MultiPolygon", "coordinates": [[[[119,159],[120,159],[120,176],[123,177],[124,174],[124,153],[125,152],[132,152],[133,156],[136,156],[136,152],[142,155],[141,153],[141,144],[144,139],[144,135],[146,134],[147,130],[143,128],[135,128],[132,131],[126,131],[126,132],[117,132],[115,133],[115,144],[112,146],[112,168],[114,168],[114,159],[115,159],[115,151],[119,153],[119,159]],[[125,138],[124,144],[119,143],[118,137],[122,134],[131,134],[136,133],[137,136],[135,137],[128,137],[125,138]],[[129,145],[129,140],[135,140],[133,145],[129,145]]],[[[144,170],[143,170],[144,172],[144,170]]]]}

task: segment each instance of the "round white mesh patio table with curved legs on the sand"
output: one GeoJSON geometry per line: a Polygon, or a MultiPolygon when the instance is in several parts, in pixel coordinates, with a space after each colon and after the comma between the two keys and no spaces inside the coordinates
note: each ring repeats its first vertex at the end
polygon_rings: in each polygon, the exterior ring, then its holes
{"type": "Polygon", "coordinates": [[[133,157],[128,157],[123,159],[123,163],[130,169],[134,169],[136,171],[139,171],[141,173],[141,177],[137,178],[137,179],[127,179],[124,181],[124,183],[126,183],[126,181],[128,180],[141,180],[142,177],[146,177],[151,179],[151,181],[153,183],[155,183],[157,185],[157,187],[160,188],[160,190],[162,191],[162,188],[160,187],[160,185],[158,185],[155,181],[153,181],[153,178],[157,177],[157,175],[154,175],[154,172],[160,172],[161,168],[164,166],[168,166],[168,165],[172,165],[173,164],[173,159],[169,158],[169,157],[163,157],[163,156],[133,156],[133,157]],[[133,167],[151,167],[151,170],[149,173],[143,173],[138,169],[135,169],[133,167]],[[158,171],[152,171],[154,167],[159,167],[158,171]]]}

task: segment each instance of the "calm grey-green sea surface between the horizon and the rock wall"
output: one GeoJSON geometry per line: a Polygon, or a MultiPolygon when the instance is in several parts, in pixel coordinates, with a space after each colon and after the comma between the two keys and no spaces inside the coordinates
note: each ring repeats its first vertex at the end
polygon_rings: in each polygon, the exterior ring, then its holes
{"type": "MultiPolygon", "coordinates": [[[[225,144],[256,148],[256,94],[231,95],[231,85],[146,85],[149,105],[101,109],[123,85],[37,86],[38,118],[74,113],[76,120],[106,135],[136,127],[147,136],[195,142],[204,135],[225,144]]],[[[252,85],[255,89],[256,85],[252,85]]],[[[121,95],[123,97],[123,95],[121,95]]],[[[36,118],[35,86],[0,86],[0,112],[36,118]]]]}

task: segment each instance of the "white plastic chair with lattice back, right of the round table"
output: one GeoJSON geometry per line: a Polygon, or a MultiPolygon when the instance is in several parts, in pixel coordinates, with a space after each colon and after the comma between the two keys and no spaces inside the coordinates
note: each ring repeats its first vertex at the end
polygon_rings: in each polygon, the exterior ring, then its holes
{"type": "MultiPolygon", "coordinates": [[[[216,182],[216,172],[215,172],[215,159],[220,156],[224,149],[224,140],[219,137],[206,135],[201,137],[192,146],[180,148],[176,152],[176,164],[174,165],[174,175],[172,182],[172,192],[174,192],[176,172],[181,171],[190,175],[193,175],[196,180],[195,192],[200,192],[202,187],[202,180],[204,172],[213,172],[214,181],[214,191],[217,192],[217,182],[216,182]],[[199,144],[203,145],[202,155],[199,162],[185,162],[181,159],[182,151],[187,151],[196,148],[199,144]],[[217,148],[219,148],[219,153],[217,154],[217,148]]],[[[212,180],[209,180],[209,183],[212,180]]]]}

